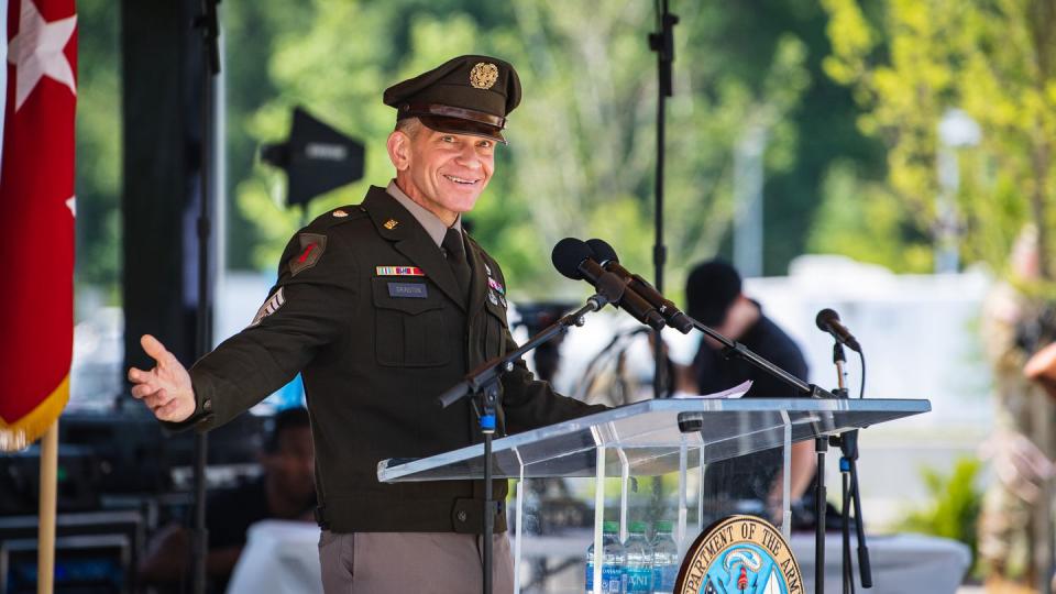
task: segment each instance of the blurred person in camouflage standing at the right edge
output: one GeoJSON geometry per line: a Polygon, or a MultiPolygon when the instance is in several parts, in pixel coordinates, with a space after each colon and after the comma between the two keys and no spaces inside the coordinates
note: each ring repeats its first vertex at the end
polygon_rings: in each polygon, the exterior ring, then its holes
{"type": "Polygon", "coordinates": [[[1027,227],[1013,248],[1011,279],[997,284],[982,307],[982,343],[994,383],[993,433],[981,447],[994,480],[978,526],[988,592],[1036,592],[1052,563],[1054,407],[1028,376],[1043,375],[1042,353],[1056,338],[1056,306],[1027,288],[1041,278],[1037,250],[1037,231],[1027,227]]]}

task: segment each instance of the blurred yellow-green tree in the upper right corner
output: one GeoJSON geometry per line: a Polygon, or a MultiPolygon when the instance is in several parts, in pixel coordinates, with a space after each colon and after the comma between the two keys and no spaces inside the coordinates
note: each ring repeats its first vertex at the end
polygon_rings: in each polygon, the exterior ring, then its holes
{"type": "Polygon", "coordinates": [[[866,110],[861,129],[887,143],[888,185],[906,221],[933,240],[941,229],[937,127],[961,109],[982,131],[978,146],[958,152],[963,260],[1007,272],[1015,237],[1035,222],[1050,279],[1056,1],[823,4],[833,44],[826,72],[854,89],[866,110]]]}

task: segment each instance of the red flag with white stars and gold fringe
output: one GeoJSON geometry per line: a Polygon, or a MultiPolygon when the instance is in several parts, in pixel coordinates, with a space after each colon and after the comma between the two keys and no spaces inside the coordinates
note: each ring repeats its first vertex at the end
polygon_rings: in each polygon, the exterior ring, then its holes
{"type": "Polygon", "coordinates": [[[77,18],[74,0],[0,12],[0,450],[13,450],[69,399],[77,18]]]}

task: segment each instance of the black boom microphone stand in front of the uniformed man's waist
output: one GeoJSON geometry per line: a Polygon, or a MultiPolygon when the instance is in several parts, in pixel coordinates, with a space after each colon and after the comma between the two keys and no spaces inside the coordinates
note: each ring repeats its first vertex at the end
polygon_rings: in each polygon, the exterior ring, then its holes
{"type": "Polygon", "coordinates": [[[473,411],[477,416],[481,435],[484,437],[484,594],[492,594],[492,535],[495,532],[496,513],[495,502],[492,501],[492,438],[495,435],[495,415],[502,391],[499,381],[504,374],[514,370],[514,362],[529,351],[566,333],[572,326],[583,326],[583,317],[587,314],[597,311],[609,302],[619,301],[624,287],[622,283],[600,283],[600,285],[602,286],[598,287],[598,293],[587,299],[586,305],[544,328],[519,349],[486,361],[470,372],[465,380],[437,398],[440,406],[447,408],[466,396],[473,397],[473,411]]]}

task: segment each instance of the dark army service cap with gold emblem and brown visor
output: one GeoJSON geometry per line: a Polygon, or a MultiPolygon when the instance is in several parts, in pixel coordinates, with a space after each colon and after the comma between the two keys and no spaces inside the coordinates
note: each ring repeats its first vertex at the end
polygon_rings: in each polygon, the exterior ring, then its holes
{"type": "Polygon", "coordinates": [[[385,89],[396,121],[418,118],[438,132],[506,143],[506,117],[520,103],[520,78],[508,62],[459,56],[385,89]]]}

